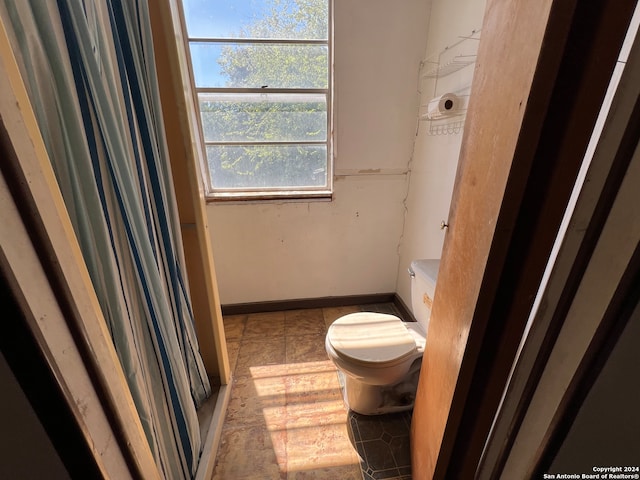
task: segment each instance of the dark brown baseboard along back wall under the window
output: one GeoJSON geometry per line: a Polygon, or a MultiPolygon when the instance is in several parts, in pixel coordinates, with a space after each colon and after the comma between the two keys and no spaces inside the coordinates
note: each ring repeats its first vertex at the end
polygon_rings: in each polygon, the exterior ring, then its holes
{"type": "MultiPolygon", "coordinates": [[[[344,297],[304,298],[298,300],[275,300],[270,302],[237,303],[222,305],[223,315],[246,315],[249,313],[279,312],[303,308],[344,307],[348,305],[368,305],[371,303],[394,303],[395,293],[374,293],[370,295],[347,295],[344,297]]],[[[406,307],[405,307],[406,308],[406,307]]]]}

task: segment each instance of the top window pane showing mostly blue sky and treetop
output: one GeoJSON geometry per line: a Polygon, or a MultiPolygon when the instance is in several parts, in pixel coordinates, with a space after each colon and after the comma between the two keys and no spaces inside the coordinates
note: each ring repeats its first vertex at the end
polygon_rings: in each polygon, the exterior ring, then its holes
{"type": "Polygon", "coordinates": [[[326,40],[328,1],[183,0],[191,38],[326,40]]]}

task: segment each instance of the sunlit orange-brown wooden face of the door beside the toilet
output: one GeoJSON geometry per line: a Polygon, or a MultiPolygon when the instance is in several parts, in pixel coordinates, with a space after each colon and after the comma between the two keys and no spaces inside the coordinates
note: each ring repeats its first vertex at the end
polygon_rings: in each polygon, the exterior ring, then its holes
{"type": "MultiPolygon", "coordinates": [[[[432,478],[441,455],[551,7],[550,0],[514,3],[517,7],[514,5],[512,12],[498,1],[489,0],[487,4],[427,336],[428,348],[414,407],[411,453],[416,479],[432,478]],[[516,58],[511,54],[513,51],[519,52],[516,58]],[[501,74],[496,76],[498,62],[501,74]],[[492,89],[492,82],[498,84],[496,90],[492,89]],[[496,91],[501,93],[495,94],[496,91]],[[483,108],[478,109],[479,106],[483,108]]],[[[443,451],[441,458],[450,454],[451,448],[452,445],[445,445],[448,452],[443,451]]]]}

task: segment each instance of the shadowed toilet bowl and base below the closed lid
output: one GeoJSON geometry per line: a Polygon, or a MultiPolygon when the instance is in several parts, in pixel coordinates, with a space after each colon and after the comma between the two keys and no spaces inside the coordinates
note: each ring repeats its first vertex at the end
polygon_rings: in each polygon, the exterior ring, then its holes
{"type": "Polygon", "coordinates": [[[416,360],[407,376],[393,385],[369,385],[338,372],[344,382],[342,393],[345,405],[362,415],[411,410],[418,388],[420,363],[421,359],[416,360]]]}

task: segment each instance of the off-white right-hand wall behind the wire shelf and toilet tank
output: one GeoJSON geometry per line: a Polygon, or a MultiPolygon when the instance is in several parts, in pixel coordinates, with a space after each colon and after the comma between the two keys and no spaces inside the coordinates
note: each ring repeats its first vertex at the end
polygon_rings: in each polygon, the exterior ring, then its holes
{"type": "MultiPolygon", "coordinates": [[[[429,20],[429,36],[423,58],[423,73],[437,64],[440,56],[447,63],[459,54],[475,54],[477,40],[465,40],[472,31],[482,27],[484,0],[434,0],[429,20]],[[456,45],[457,44],[457,45],[456,45]],[[451,47],[445,51],[446,47],[451,47]]],[[[475,37],[480,37],[476,34],[475,37]]],[[[469,87],[473,79],[474,65],[438,79],[421,77],[421,109],[434,96],[458,93],[468,101],[469,87]]],[[[438,122],[421,120],[415,137],[413,160],[409,175],[409,193],[406,200],[405,227],[400,248],[398,282],[396,291],[406,305],[411,305],[411,285],[406,274],[411,260],[440,258],[446,231],[440,229],[441,221],[449,214],[451,194],[458,165],[462,132],[449,135],[430,134],[432,126],[450,126],[456,117],[438,122]]]]}

